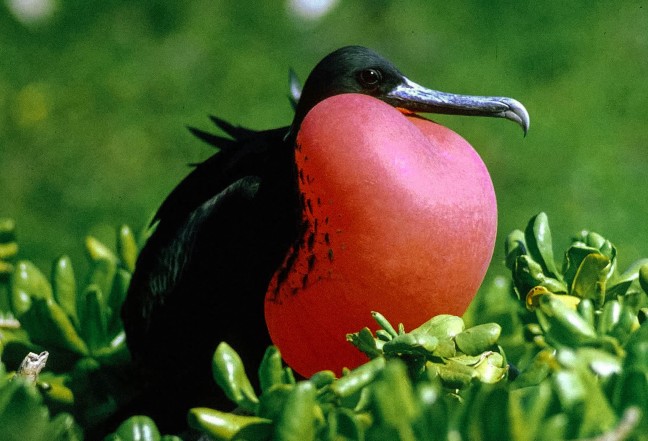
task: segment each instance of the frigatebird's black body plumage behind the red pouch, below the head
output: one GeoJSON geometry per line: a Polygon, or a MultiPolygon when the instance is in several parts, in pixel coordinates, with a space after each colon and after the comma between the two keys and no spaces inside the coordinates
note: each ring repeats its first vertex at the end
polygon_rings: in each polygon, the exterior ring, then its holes
{"type": "MultiPolygon", "coordinates": [[[[222,150],[167,197],[138,258],[122,309],[129,349],[151,387],[170,387],[181,409],[226,405],[210,375],[220,341],[249,366],[270,344],[263,294],[298,221],[287,131],[236,129],[225,143],[208,138],[222,150]]],[[[148,398],[157,392],[164,393],[148,398]]],[[[144,410],[159,419],[185,419],[166,415],[178,412],[168,402],[146,401],[144,410]]]]}

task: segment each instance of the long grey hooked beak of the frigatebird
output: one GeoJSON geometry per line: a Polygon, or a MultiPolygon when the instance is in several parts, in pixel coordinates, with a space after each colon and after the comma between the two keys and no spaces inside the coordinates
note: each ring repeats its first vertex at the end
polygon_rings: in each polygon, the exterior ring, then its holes
{"type": "Polygon", "coordinates": [[[519,124],[525,135],[529,130],[529,112],[513,98],[439,92],[405,78],[383,99],[393,106],[412,112],[506,118],[519,124]]]}

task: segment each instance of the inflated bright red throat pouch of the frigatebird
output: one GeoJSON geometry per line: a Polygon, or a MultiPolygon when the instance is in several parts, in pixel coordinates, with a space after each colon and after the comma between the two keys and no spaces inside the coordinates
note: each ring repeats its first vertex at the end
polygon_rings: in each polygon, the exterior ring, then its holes
{"type": "Polygon", "coordinates": [[[490,176],[465,140],[374,98],[338,95],[305,118],[295,161],[302,230],[265,310],[297,372],[362,362],[345,336],[375,327],[373,310],[408,328],[463,313],[497,218],[490,176]]]}

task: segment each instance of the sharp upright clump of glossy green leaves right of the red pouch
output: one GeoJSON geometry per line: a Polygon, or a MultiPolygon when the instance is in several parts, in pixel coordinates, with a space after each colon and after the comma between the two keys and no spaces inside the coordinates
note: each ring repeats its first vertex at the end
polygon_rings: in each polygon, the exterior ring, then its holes
{"type": "MultiPolygon", "coordinates": [[[[586,315],[602,311],[604,304],[608,309],[623,310],[628,320],[636,320],[639,311],[644,317],[648,312],[648,298],[642,289],[648,287],[648,259],[640,259],[620,273],[616,247],[598,233],[581,231],[565,252],[559,270],[547,216],[540,213],[529,221],[525,231],[509,234],[505,252],[515,292],[529,310],[534,310],[545,294],[553,293],[563,295],[552,298],[567,305],[587,305],[581,306],[590,310],[584,312],[586,315]]],[[[612,325],[602,324],[606,331],[611,331],[608,328],[612,325]]]]}

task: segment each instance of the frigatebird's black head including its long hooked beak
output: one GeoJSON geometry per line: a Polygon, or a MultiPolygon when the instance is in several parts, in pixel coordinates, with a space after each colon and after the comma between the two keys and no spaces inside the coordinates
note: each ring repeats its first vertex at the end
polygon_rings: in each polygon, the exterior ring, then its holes
{"type": "Polygon", "coordinates": [[[405,77],[390,61],[362,46],[346,46],[324,57],[301,92],[291,126],[296,134],[306,114],[320,101],[361,93],[409,112],[506,118],[526,134],[529,114],[512,98],[459,95],[427,89],[405,77]]]}

